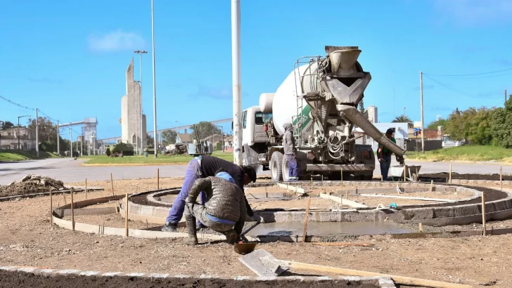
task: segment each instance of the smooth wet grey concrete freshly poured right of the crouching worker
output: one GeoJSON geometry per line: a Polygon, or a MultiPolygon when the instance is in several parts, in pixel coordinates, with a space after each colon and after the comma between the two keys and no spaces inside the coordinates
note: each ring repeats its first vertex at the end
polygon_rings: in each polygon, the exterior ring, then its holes
{"type": "MultiPolygon", "coordinates": [[[[411,233],[414,230],[402,228],[391,222],[309,222],[307,235],[380,235],[411,233]]],[[[248,236],[291,236],[302,235],[304,223],[262,223],[252,228],[248,236]]]]}

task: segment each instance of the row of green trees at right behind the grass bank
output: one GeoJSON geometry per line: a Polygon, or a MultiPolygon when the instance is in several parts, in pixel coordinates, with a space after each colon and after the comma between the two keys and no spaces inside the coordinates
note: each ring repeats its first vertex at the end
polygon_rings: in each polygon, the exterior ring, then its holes
{"type": "Polygon", "coordinates": [[[428,129],[443,126],[443,133],[454,140],[466,140],[474,145],[497,145],[512,148],[512,100],[505,107],[458,108],[446,119],[437,119],[428,124],[428,129]]]}

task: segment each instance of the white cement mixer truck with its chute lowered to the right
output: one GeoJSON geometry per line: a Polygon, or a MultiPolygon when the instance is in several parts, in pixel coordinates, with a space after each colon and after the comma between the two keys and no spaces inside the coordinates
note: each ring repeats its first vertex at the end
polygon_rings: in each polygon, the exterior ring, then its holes
{"type": "Polygon", "coordinates": [[[371,74],[357,61],[357,46],[326,46],[325,56],[299,58],[275,93],[262,93],[260,105],[243,111],[243,164],[267,167],[274,182],[288,181],[283,125],[293,125],[300,178],[371,180],[376,160],[371,145],[358,145],[354,126],[395,153],[392,143],[357,110],[371,74]]]}

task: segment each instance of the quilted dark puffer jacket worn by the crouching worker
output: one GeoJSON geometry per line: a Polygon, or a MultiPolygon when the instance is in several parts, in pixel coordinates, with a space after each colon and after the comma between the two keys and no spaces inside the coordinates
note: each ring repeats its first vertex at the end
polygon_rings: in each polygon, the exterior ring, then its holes
{"type": "Polygon", "coordinates": [[[194,203],[201,191],[206,194],[205,210],[210,216],[236,222],[234,230],[241,234],[245,223],[245,195],[237,185],[223,178],[209,176],[194,182],[186,202],[194,203]]]}

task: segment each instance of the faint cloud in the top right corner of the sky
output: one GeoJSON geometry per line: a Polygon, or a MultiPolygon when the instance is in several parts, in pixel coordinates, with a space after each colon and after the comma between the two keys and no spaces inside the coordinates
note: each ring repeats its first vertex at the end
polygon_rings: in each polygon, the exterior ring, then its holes
{"type": "Polygon", "coordinates": [[[510,0],[436,0],[435,8],[459,25],[482,26],[512,20],[510,0]]]}

